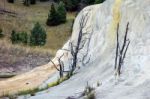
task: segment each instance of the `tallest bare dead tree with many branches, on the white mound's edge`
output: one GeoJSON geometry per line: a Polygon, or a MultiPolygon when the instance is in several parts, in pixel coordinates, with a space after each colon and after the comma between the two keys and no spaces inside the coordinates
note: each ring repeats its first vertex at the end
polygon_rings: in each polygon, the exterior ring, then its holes
{"type": "MultiPolygon", "coordinates": [[[[81,49],[85,46],[86,40],[90,38],[84,38],[88,33],[84,33],[83,29],[85,28],[86,24],[88,21],[88,13],[83,15],[80,19],[79,23],[79,33],[78,33],[78,38],[77,38],[77,43],[74,45],[73,42],[70,42],[70,53],[72,55],[72,64],[70,65],[70,72],[69,76],[73,75],[73,72],[75,71],[77,67],[77,61],[78,61],[78,54],[81,49]]],[[[85,57],[85,56],[83,56],[85,57]]]]}

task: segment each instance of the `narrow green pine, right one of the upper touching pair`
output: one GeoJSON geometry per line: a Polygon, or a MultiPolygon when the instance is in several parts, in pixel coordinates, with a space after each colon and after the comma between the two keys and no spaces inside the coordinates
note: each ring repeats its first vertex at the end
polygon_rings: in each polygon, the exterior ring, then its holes
{"type": "Polygon", "coordinates": [[[57,8],[57,12],[59,14],[59,22],[60,23],[64,23],[66,22],[66,9],[65,9],[65,5],[64,3],[61,1],[58,5],[58,8],[57,8]]]}

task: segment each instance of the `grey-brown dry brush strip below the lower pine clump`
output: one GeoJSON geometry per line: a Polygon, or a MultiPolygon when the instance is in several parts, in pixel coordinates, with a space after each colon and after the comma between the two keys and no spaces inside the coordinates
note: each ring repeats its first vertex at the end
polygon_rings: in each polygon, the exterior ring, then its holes
{"type": "Polygon", "coordinates": [[[47,64],[52,57],[50,57],[50,54],[55,53],[39,47],[30,48],[12,45],[6,39],[0,40],[0,46],[1,75],[3,73],[22,73],[47,64]]]}

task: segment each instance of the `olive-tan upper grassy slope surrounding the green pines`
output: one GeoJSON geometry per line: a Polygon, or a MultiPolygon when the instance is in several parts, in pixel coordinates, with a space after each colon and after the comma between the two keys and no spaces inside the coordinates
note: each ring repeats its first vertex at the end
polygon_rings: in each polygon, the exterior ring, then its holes
{"type": "MultiPolygon", "coordinates": [[[[13,17],[8,14],[0,15],[0,28],[2,28],[7,37],[9,37],[13,29],[30,33],[34,23],[40,22],[46,29],[48,35],[47,43],[44,47],[51,50],[57,50],[62,47],[64,42],[66,42],[71,35],[71,25],[75,18],[75,13],[67,14],[67,22],[65,24],[56,27],[48,27],[45,22],[50,5],[50,2],[45,2],[26,7],[23,6],[19,0],[16,0],[15,4],[8,4],[6,2],[5,9],[16,12],[17,16],[13,17]]],[[[4,8],[3,2],[0,3],[0,7],[4,8]]]]}

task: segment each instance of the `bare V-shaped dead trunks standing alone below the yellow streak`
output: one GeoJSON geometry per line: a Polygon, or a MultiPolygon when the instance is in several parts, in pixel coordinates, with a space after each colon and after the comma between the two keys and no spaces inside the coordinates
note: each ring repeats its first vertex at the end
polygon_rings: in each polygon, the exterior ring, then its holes
{"type": "Polygon", "coordinates": [[[129,22],[127,23],[123,44],[121,46],[120,42],[119,42],[119,24],[118,24],[118,27],[117,27],[117,46],[116,46],[116,57],[115,57],[115,70],[116,70],[115,75],[118,75],[118,76],[121,73],[121,67],[123,65],[123,62],[124,62],[124,59],[126,56],[126,52],[128,50],[129,44],[130,44],[130,40],[127,39],[128,30],[129,30],[129,22]]]}

